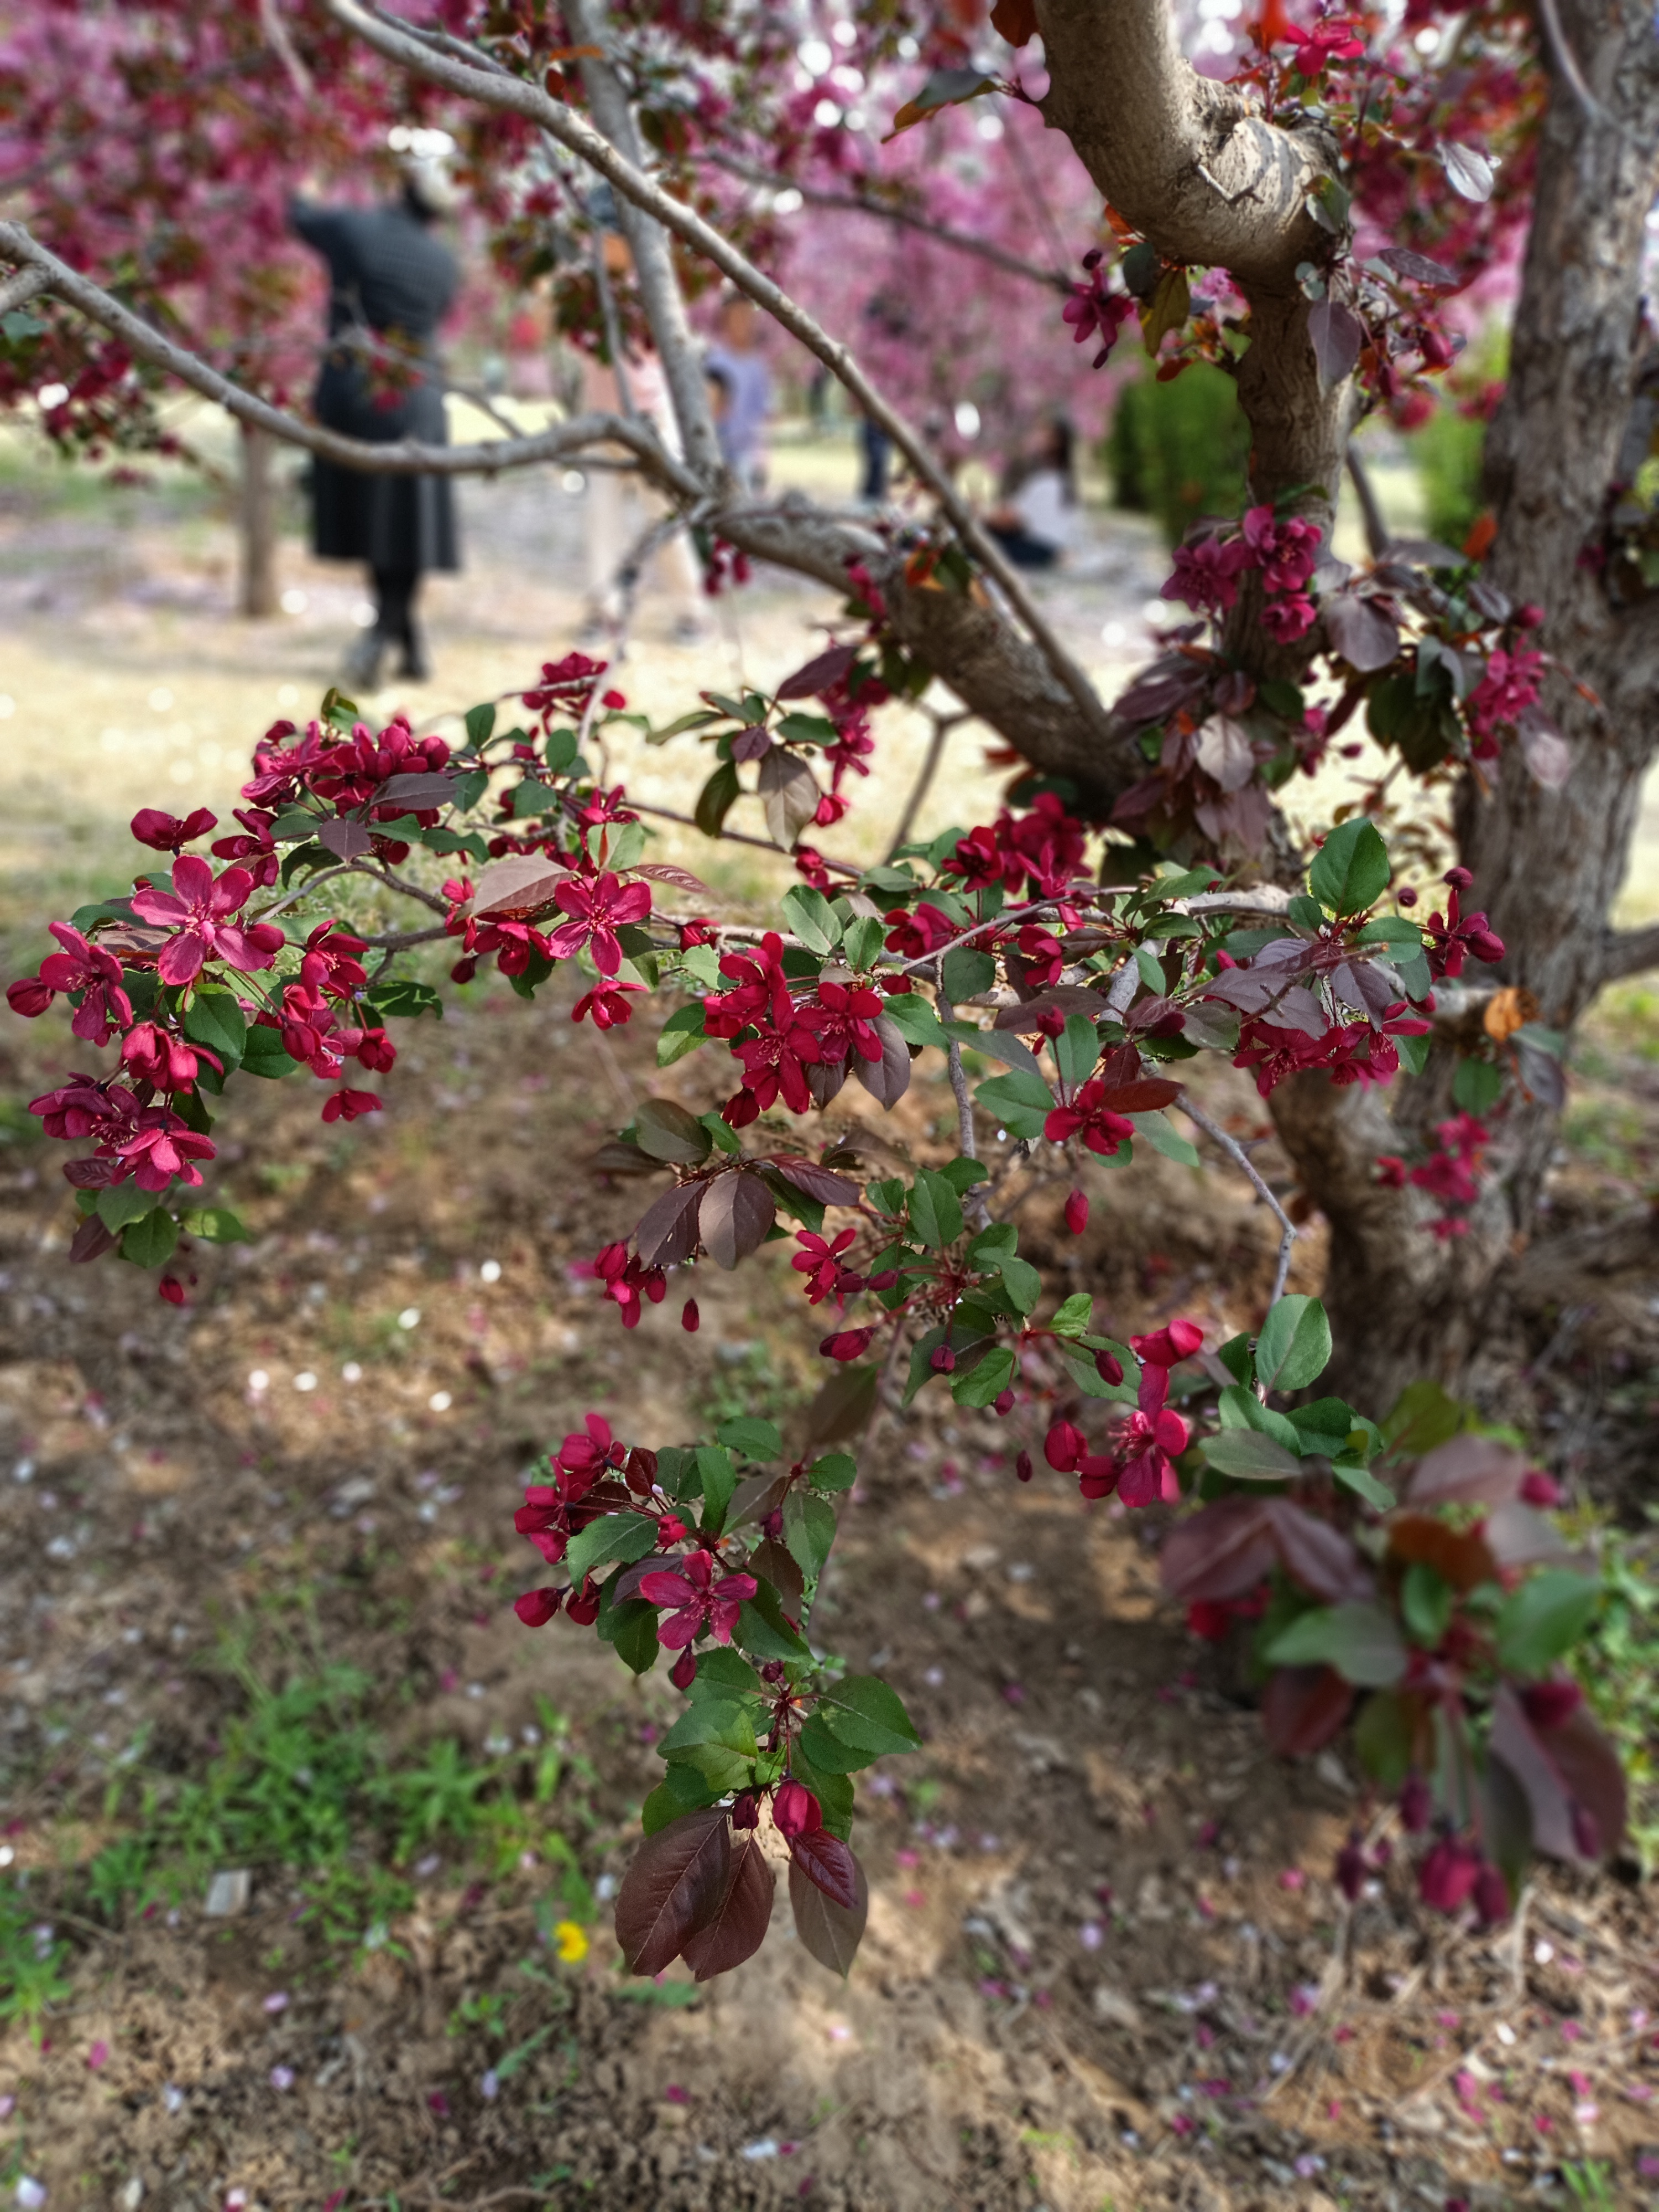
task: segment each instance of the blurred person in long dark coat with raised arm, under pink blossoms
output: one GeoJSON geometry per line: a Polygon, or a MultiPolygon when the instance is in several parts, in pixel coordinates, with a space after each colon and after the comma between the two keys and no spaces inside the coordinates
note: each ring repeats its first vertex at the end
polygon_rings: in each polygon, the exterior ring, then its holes
{"type": "MultiPolygon", "coordinates": [[[[460,290],[460,268],[436,223],[456,208],[438,159],[403,164],[403,195],[385,208],[319,208],[294,199],[294,232],[330,272],[316,420],[347,438],[447,445],[438,325],[460,290]],[[376,363],[374,338],[394,352],[376,363]]],[[[369,476],[312,462],[312,549],[319,560],[361,560],[374,584],[374,626],[345,661],[345,681],[374,690],[387,650],[398,675],[425,681],[431,661],[416,624],[427,568],[460,568],[456,491],[447,476],[369,476]]]]}

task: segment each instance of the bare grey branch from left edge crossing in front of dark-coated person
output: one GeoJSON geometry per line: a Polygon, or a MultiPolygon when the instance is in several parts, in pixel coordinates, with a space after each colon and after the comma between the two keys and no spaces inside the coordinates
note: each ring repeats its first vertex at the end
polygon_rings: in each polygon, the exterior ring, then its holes
{"type": "Polygon", "coordinates": [[[336,460],[343,469],[361,469],[365,476],[493,476],[498,469],[566,460],[586,445],[622,445],[666,491],[697,498],[703,489],[684,462],[664,451],[650,425],[624,422],[622,416],[608,414],[575,416],[553,429],[538,431],[533,438],[500,438],[495,445],[420,445],[414,438],[372,445],[365,438],[343,438],[338,431],[323,429],[321,422],[305,422],[301,416],[243,392],[241,385],[232,385],[197,354],[164,338],[159,330],[111,299],[100,285],[71,270],[66,261],[40,246],[22,223],[0,223],[0,254],[31,263],[44,274],[38,290],[49,290],[69,301],[71,307],[80,307],[84,316],[108,330],[142,361],[177,376],[181,385],[215,400],[239,422],[268,429],[285,445],[303,445],[323,460],[336,460]]]}

